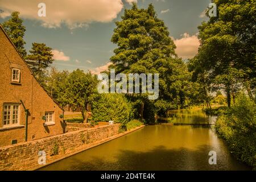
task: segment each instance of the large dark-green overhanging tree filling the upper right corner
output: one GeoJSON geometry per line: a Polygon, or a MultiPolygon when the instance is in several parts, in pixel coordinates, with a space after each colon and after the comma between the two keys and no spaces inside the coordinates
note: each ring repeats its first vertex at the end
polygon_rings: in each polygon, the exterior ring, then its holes
{"type": "MultiPolygon", "coordinates": [[[[200,67],[201,72],[207,72],[211,84],[224,86],[230,106],[239,80],[251,98],[255,90],[256,1],[213,2],[217,5],[218,14],[199,26],[201,45],[191,64],[200,67]]],[[[193,74],[200,73],[196,67],[193,74]]]]}

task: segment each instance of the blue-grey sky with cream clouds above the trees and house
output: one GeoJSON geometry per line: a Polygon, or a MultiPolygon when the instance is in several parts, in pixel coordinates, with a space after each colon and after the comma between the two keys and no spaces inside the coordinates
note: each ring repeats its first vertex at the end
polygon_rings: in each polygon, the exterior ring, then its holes
{"type": "Polygon", "coordinates": [[[33,42],[45,43],[53,49],[52,65],[60,71],[80,68],[98,74],[108,68],[117,47],[110,41],[115,22],[132,2],[144,9],[154,5],[158,18],[170,31],[178,56],[185,60],[196,55],[197,27],[208,20],[204,10],[210,0],[0,0],[0,23],[10,18],[11,12],[19,11],[26,26],[27,52],[33,42]],[[38,15],[42,2],[46,16],[38,15]]]}

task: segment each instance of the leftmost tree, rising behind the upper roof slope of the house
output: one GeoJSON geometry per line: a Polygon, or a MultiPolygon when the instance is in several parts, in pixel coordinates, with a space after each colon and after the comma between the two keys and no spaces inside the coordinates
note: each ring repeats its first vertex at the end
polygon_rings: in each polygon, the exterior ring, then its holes
{"type": "Polygon", "coordinates": [[[9,35],[14,46],[18,49],[20,55],[25,57],[27,55],[24,45],[26,42],[23,40],[23,36],[26,31],[26,27],[22,24],[23,20],[19,18],[19,12],[14,11],[11,14],[11,18],[3,23],[3,28],[9,35]]]}

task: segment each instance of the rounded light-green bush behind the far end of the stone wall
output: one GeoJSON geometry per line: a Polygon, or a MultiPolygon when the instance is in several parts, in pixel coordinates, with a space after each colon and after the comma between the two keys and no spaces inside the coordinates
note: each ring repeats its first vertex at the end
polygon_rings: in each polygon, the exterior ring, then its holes
{"type": "Polygon", "coordinates": [[[123,94],[100,94],[92,105],[93,121],[126,125],[133,118],[133,108],[123,94]]]}

